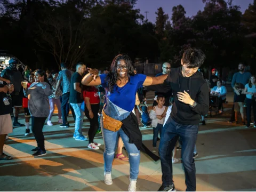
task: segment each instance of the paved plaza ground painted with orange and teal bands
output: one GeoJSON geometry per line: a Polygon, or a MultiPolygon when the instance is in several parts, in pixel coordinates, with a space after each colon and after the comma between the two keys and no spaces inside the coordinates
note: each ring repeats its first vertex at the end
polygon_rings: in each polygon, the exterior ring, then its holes
{"type": "MultiPolygon", "coordinates": [[[[153,93],[149,92],[148,102],[153,93]]],[[[256,129],[246,129],[242,124],[227,123],[232,101],[228,95],[225,113],[206,118],[200,126],[196,158],[198,191],[255,191],[256,190],[256,129]]],[[[44,127],[47,155],[31,156],[36,146],[33,135],[25,137],[25,127],[18,127],[10,134],[4,150],[13,156],[12,161],[0,162],[1,191],[127,191],[129,162],[115,160],[113,185],[103,183],[103,149],[101,135],[96,142],[100,150],[89,150],[87,141],[73,139],[74,121],[70,128],[61,128],[53,116],[54,126],[44,127]]],[[[21,119],[24,123],[24,119],[21,119]]],[[[83,132],[87,134],[85,119],[83,132]]],[[[143,141],[151,148],[153,129],[141,129],[143,141]]],[[[124,151],[125,153],[125,151],[124,151]]],[[[180,160],[180,151],[177,157],[180,160]]],[[[173,164],[173,179],[178,190],[185,190],[185,175],[181,161],[173,164]]],[[[156,191],[161,186],[161,163],[141,155],[138,191],[156,191]]]]}

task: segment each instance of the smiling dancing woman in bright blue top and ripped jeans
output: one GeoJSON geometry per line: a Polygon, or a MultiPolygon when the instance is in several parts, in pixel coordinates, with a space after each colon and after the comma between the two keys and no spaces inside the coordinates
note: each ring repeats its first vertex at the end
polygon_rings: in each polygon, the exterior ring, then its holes
{"type": "Polygon", "coordinates": [[[105,99],[106,106],[103,110],[106,115],[123,123],[121,129],[117,132],[102,127],[105,143],[103,154],[105,163],[104,182],[106,185],[112,185],[113,183],[111,169],[118,135],[120,135],[130,160],[130,185],[128,190],[135,191],[139,174],[140,149],[145,150],[137,118],[131,113],[134,108],[135,95],[137,90],[143,85],[162,84],[167,75],[158,77],[149,77],[143,74],[134,75],[131,59],[125,55],[117,55],[114,58],[109,74],[98,76],[99,71],[97,69],[88,69],[89,74],[83,78],[82,84],[87,86],[102,85],[105,87],[107,97],[105,99]]]}

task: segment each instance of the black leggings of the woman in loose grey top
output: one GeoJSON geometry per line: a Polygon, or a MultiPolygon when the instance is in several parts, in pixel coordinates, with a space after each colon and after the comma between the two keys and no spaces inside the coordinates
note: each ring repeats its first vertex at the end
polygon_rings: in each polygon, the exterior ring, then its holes
{"type": "Polygon", "coordinates": [[[44,134],[43,127],[47,117],[31,117],[31,130],[34,134],[34,137],[37,142],[37,147],[41,150],[45,150],[44,148],[44,134]]]}

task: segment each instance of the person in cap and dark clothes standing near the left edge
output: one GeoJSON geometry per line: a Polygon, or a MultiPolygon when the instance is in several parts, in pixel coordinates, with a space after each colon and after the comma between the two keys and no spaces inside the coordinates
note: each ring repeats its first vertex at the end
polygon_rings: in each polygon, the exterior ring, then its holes
{"type": "Polygon", "coordinates": [[[1,77],[9,79],[11,84],[14,85],[14,91],[11,93],[12,107],[14,107],[14,121],[13,126],[25,126],[18,122],[20,108],[22,107],[23,91],[21,82],[23,81],[22,74],[17,69],[18,60],[11,58],[9,60],[9,67],[4,69],[1,73],[1,77]]]}

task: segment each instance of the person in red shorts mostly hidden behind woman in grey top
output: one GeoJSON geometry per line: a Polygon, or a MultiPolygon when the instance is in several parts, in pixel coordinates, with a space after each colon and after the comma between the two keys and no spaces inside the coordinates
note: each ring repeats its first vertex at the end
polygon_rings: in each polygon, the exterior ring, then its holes
{"type": "MultiPolygon", "coordinates": [[[[34,74],[29,74],[27,87],[29,87],[32,83],[34,83],[34,74]]],[[[28,98],[26,98],[26,97],[22,98],[22,107],[24,109],[25,122],[26,122],[25,123],[25,125],[26,125],[25,136],[27,136],[30,133],[30,129],[29,129],[30,113],[28,110],[28,98]]]]}

